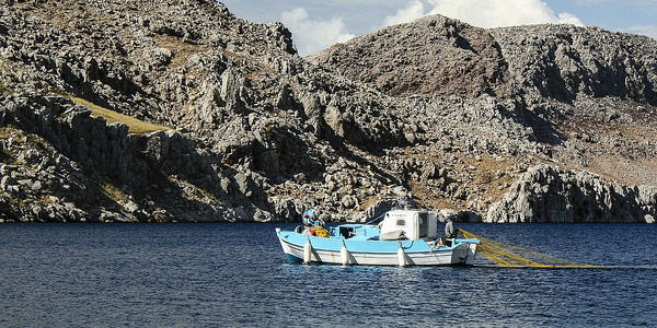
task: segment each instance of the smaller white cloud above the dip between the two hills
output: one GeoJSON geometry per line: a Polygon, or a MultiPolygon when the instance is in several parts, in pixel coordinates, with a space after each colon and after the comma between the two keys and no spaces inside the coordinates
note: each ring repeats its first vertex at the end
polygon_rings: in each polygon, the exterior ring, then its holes
{"type": "Polygon", "coordinates": [[[335,43],[344,43],[355,37],[347,31],[342,17],[313,21],[303,8],[283,12],[280,21],[292,32],[292,39],[301,56],[314,54],[335,43]]]}

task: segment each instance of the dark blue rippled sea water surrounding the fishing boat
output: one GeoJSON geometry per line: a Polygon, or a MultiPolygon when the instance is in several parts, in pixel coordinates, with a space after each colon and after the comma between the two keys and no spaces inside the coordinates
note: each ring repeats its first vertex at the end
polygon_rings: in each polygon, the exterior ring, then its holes
{"type": "Polygon", "coordinates": [[[657,225],[458,225],[607,269],[288,265],[275,226],[0,224],[0,327],[657,323],[657,225]]]}

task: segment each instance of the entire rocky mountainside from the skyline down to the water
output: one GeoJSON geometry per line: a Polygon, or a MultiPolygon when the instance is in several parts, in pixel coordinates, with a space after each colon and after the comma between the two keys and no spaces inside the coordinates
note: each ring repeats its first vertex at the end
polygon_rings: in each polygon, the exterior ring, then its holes
{"type": "Polygon", "coordinates": [[[657,185],[647,37],[433,16],[301,58],[214,1],[0,3],[4,222],[364,220],[396,198],[657,218],[635,187],[657,185]]]}

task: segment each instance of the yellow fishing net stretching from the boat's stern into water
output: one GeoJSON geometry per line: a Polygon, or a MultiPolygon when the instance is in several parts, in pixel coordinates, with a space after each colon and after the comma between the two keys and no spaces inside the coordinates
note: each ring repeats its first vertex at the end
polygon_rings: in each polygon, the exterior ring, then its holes
{"type": "Polygon", "coordinates": [[[602,268],[600,266],[580,263],[535,250],[488,239],[475,234],[459,230],[465,238],[476,238],[480,245],[476,251],[489,261],[500,267],[508,268],[602,268]]]}

